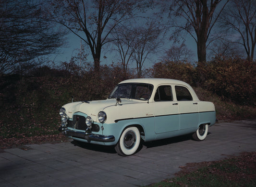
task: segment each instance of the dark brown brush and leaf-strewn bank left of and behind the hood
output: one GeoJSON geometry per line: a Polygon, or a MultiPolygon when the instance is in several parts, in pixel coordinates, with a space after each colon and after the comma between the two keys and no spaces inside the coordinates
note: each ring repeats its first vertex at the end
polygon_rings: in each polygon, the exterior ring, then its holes
{"type": "Polygon", "coordinates": [[[74,101],[107,99],[116,84],[127,79],[115,65],[102,66],[101,74],[80,70],[41,67],[30,73],[38,77],[0,77],[0,139],[59,133],[58,111],[72,96],[74,101]]]}

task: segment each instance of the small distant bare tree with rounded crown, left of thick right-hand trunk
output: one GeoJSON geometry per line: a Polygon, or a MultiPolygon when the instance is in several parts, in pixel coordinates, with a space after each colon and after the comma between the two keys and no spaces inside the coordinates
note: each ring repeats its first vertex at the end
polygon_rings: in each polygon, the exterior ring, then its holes
{"type": "Polygon", "coordinates": [[[164,59],[172,62],[190,62],[192,63],[193,52],[187,48],[183,43],[181,45],[172,45],[169,50],[165,52],[164,59]]]}

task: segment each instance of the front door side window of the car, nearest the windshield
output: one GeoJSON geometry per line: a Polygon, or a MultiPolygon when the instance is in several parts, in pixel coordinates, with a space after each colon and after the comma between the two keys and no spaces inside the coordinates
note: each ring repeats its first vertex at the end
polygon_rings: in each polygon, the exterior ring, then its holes
{"type": "Polygon", "coordinates": [[[171,100],[173,100],[172,93],[171,93],[171,86],[168,86],[168,85],[159,86],[156,91],[154,100],[155,101],[171,101],[171,100]]]}

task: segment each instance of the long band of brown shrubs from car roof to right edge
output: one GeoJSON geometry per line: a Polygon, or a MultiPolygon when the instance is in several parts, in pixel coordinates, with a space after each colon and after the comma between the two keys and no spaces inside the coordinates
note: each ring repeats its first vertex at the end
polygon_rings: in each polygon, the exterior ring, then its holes
{"type": "Polygon", "coordinates": [[[239,104],[256,105],[256,63],[239,58],[214,58],[197,66],[171,61],[153,66],[152,77],[173,78],[206,88],[239,104]]]}

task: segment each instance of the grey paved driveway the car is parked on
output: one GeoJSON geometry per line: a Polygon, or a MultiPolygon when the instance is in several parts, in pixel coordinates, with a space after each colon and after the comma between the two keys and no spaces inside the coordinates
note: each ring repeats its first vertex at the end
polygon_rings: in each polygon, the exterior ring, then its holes
{"type": "Polygon", "coordinates": [[[217,123],[205,141],[190,136],[145,143],[122,157],[113,147],[33,144],[0,153],[0,187],[135,187],[174,176],[179,166],[256,151],[256,120],[217,123]]]}

